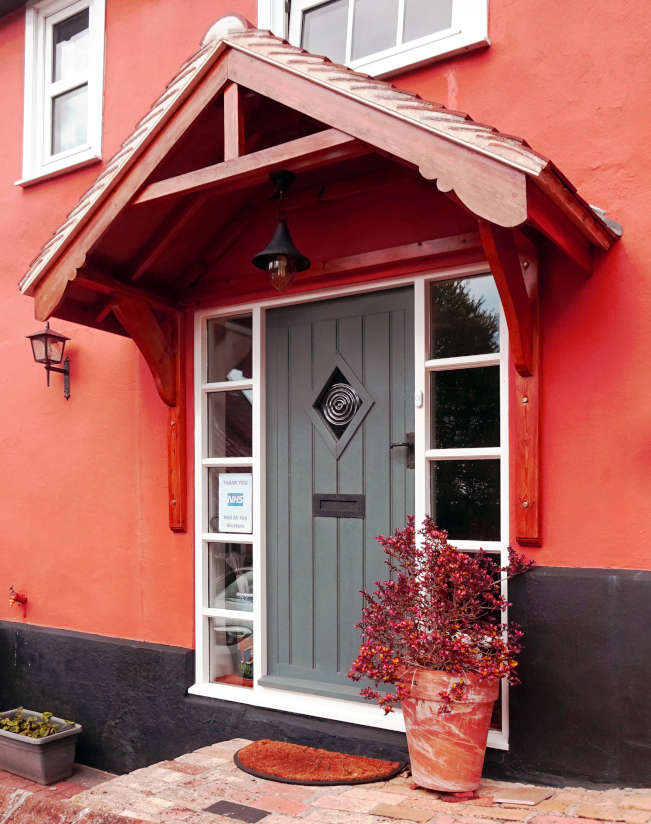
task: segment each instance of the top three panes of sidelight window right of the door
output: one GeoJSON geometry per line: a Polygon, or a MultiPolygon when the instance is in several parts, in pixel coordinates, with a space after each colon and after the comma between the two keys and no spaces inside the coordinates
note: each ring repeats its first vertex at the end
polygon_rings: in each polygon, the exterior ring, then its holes
{"type": "Polygon", "coordinates": [[[502,538],[500,301],[491,275],[429,294],[430,514],[453,541],[502,538]]]}

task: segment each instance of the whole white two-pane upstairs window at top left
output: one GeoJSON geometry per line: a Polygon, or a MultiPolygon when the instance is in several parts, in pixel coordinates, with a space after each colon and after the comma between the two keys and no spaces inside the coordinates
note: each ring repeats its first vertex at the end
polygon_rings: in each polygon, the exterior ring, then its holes
{"type": "Polygon", "coordinates": [[[104,2],[27,7],[21,184],[101,157],[104,2]]]}

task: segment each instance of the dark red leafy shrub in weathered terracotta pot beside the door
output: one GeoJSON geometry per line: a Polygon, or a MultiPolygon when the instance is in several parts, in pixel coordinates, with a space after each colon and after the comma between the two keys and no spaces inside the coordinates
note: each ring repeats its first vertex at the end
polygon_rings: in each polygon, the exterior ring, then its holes
{"type": "Polygon", "coordinates": [[[384,695],[371,687],[361,694],[387,713],[402,702],[416,784],[475,790],[500,679],[518,682],[522,633],[501,622],[509,606],[502,582],[534,562],[510,547],[506,567],[483,550],[459,550],[429,517],[418,532],[410,518],[377,540],[390,576],[373,594],[362,592],[362,645],[349,677],[395,685],[384,695]]]}

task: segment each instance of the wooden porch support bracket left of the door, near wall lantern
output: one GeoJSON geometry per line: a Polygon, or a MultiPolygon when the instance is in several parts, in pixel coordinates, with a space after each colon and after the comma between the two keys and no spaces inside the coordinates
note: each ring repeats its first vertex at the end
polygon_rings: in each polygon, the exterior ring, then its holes
{"type": "Polygon", "coordinates": [[[142,300],[111,295],[111,307],[151,371],[167,415],[169,522],[174,532],[186,529],[185,333],[183,313],[169,310],[159,323],[142,300]]]}

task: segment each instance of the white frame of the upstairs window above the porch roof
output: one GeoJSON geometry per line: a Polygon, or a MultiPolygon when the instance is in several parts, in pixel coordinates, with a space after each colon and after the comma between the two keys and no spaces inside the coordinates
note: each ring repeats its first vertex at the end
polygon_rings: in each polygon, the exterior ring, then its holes
{"type": "MultiPolygon", "coordinates": [[[[289,4],[286,0],[258,0],[258,26],[262,29],[270,29],[279,37],[289,39],[293,46],[300,46],[302,12],[323,2],[324,0],[292,0],[292,11],[288,14],[286,6],[289,4]]],[[[398,16],[401,21],[404,0],[399,0],[399,4],[398,16]]],[[[351,0],[348,13],[346,65],[373,77],[389,76],[437,58],[449,57],[459,52],[490,45],[488,0],[453,0],[452,25],[449,29],[411,40],[408,43],[401,43],[359,60],[351,60],[352,9],[351,0]]],[[[400,43],[401,26],[399,25],[398,28],[398,42],[400,43]]]]}

